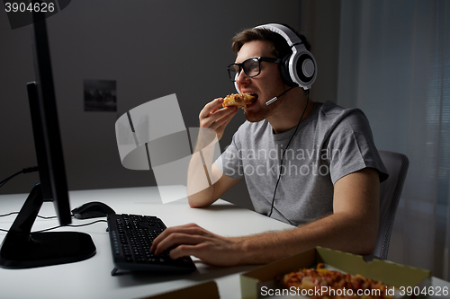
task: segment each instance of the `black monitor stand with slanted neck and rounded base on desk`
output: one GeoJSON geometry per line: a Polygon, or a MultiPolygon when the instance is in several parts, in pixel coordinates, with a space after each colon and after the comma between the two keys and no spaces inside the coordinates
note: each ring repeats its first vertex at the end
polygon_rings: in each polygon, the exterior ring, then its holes
{"type": "Polygon", "coordinates": [[[36,268],[66,264],[95,255],[95,245],[87,233],[31,233],[42,206],[40,184],[31,189],[0,249],[0,267],[36,268]]]}

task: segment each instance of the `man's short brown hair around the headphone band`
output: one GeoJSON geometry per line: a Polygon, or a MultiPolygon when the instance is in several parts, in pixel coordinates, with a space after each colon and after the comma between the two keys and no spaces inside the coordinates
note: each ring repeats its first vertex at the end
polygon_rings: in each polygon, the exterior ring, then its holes
{"type": "MultiPolygon", "coordinates": [[[[302,40],[302,43],[305,45],[305,48],[308,51],[311,51],[311,44],[308,40],[306,40],[306,37],[303,34],[293,30],[293,28],[288,25],[284,24],[284,26],[291,29],[295,34],[297,34],[300,40],[302,40]]],[[[245,43],[253,40],[269,41],[272,44],[272,53],[277,58],[283,58],[293,52],[287,44],[286,40],[284,40],[284,37],[282,37],[278,33],[275,33],[274,31],[270,31],[264,28],[248,28],[238,32],[238,34],[233,37],[233,44],[231,46],[231,49],[233,50],[234,54],[238,55],[238,51],[240,50],[240,48],[242,48],[245,43]]]]}

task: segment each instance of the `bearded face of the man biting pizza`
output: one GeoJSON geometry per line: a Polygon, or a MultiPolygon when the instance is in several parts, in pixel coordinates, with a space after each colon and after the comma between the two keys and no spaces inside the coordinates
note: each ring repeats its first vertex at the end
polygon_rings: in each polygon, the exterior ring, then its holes
{"type": "MultiPolygon", "coordinates": [[[[245,43],[238,52],[236,63],[242,63],[252,57],[275,57],[271,51],[271,43],[266,40],[253,40],[245,43]]],[[[266,101],[284,92],[287,88],[281,79],[278,64],[261,62],[261,73],[255,77],[248,77],[241,71],[236,78],[236,84],[240,92],[257,94],[257,101],[246,108],[248,121],[256,122],[266,119],[274,113],[280,104],[279,101],[266,106],[266,101]]]]}

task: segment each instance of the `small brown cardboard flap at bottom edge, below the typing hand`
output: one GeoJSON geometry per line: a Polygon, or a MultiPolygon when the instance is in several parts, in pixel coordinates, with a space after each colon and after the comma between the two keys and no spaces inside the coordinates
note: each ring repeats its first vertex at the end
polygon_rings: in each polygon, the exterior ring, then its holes
{"type": "Polygon", "coordinates": [[[209,281],[200,285],[188,286],[160,295],[152,295],[141,299],[219,299],[219,289],[215,281],[209,281]]]}

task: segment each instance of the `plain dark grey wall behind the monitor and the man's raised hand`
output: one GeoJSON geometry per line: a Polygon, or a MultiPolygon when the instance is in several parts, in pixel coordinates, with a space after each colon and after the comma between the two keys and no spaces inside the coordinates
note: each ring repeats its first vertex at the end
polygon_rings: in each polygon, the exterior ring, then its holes
{"type": "MultiPolygon", "coordinates": [[[[121,166],[115,120],[127,110],[176,93],[186,127],[198,127],[208,101],[234,92],[226,66],[230,39],[266,22],[299,25],[290,1],[72,1],[48,19],[53,75],[69,189],[155,185],[151,171],[121,166]],[[85,112],[83,80],[117,81],[117,112],[85,112]]],[[[0,180],[36,164],[26,83],[34,80],[30,26],[12,31],[0,12],[0,180]]],[[[233,119],[228,145],[244,121],[233,119]]],[[[39,177],[21,175],[0,194],[29,192],[39,177]]],[[[245,184],[225,198],[247,198],[245,184]]],[[[234,200],[236,201],[236,200],[234,200]]],[[[238,203],[250,207],[248,201],[238,203]]]]}

